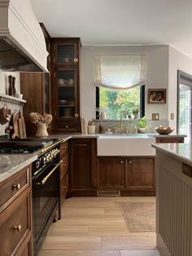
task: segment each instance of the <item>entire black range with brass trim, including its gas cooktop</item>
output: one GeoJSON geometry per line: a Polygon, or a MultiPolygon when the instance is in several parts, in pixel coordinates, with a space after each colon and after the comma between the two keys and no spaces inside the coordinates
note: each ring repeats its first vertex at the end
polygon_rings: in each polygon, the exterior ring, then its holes
{"type": "Polygon", "coordinates": [[[33,162],[33,248],[37,255],[50,225],[60,216],[59,141],[20,139],[0,141],[0,153],[34,153],[33,162]]]}

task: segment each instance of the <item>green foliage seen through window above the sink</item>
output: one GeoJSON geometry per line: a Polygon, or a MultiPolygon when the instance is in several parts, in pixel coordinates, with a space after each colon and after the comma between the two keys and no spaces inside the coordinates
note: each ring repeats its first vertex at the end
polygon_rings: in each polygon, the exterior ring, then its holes
{"type": "Polygon", "coordinates": [[[111,90],[100,87],[99,108],[105,109],[107,119],[120,118],[120,112],[125,111],[131,115],[135,109],[140,108],[140,86],[129,90],[111,90]]]}

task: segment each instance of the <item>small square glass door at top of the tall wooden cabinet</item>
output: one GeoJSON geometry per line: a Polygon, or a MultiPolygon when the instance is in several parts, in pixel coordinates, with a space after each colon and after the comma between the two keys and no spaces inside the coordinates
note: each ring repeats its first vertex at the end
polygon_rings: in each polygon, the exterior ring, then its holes
{"type": "Polygon", "coordinates": [[[76,64],[78,63],[76,44],[56,44],[55,64],[76,64]]]}

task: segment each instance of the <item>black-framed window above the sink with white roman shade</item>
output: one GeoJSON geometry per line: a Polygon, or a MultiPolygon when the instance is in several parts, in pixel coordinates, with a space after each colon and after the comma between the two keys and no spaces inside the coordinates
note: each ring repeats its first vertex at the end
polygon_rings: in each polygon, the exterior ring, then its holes
{"type": "Polygon", "coordinates": [[[99,55],[96,67],[96,118],[116,120],[145,115],[146,55],[99,55]]]}

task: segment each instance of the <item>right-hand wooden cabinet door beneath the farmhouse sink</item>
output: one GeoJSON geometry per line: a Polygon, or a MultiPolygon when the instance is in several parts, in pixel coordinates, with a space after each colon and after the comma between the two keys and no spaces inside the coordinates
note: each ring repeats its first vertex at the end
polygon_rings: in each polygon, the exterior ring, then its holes
{"type": "Polygon", "coordinates": [[[155,158],[129,158],[126,170],[127,188],[155,188],[155,158]]]}

